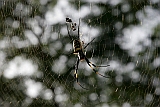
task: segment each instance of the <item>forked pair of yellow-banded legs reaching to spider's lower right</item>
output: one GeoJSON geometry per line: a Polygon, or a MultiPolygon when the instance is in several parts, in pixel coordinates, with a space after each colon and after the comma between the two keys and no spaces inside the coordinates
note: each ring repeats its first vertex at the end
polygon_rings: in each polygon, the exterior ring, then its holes
{"type": "Polygon", "coordinates": [[[100,75],[100,76],[102,76],[102,77],[104,77],[104,78],[109,78],[109,77],[107,77],[107,76],[104,76],[104,75],[100,74],[98,71],[96,71],[96,70],[93,68],[93,66],[96,67],[96,68],[98,68],[98,67],[108,67],[108,66],[110,66],[110,65],[106,65],[106,66],[96,66],[95,64],[93,64],[92,62],[90,62],[86,56],[85,56],[85,60],[86,60],[87,64],[89,65],[89,67],[90,67],[96,74],[98,74],[98,75],[100,75]]]}

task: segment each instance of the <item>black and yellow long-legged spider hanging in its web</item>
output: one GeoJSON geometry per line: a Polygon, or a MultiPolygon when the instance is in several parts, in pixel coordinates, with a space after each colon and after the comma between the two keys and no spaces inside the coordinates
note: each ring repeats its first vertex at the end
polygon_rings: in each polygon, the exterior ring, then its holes
{"type": "Polygon", "coordinates": [[[78,66],[79,66],[79,62],[85,60],[85,61],[87,62],[87,64],[88,64],[88,66],[89,66],[97,75],[100,75],[100,76],[102,76],[102,77],[104,77],[104,78],[109,78],[109,77],[106,77],[106,76],[100,74],[100,73],[99,73],[97,70],[95,70],[94,68],[98,68],[98,67],[108,67],[108,66],[110,66],[110,65],[97,66],[97,65],[93,64],[92,62],[90,62],[89,59],[86,57],[86,55],[85,55],[85,53],[84,53],[84,49],[87,48],[87,46],[88,46],[91,42],[93,42],[93,40],[94,40],[95,38],[93,38],[88,44],[86,44],[86,45],[84,46],[83,41],[80,40],[80,34],[79,34],[80,19],[79,19],[79,25],[78,25],[78,38],[77,38],[77,39],[73,39],[73,38],[71,37],[71,35],[70,35],[70,30],[69,30],[69,28],[68,28],[68,24],[67,24],[67,23],[70,24],[70,28],[71,28],[72,31],[75,31],[75,30],[76,30],[76,23],[73,23],[73,22],[72,22],[72,19],[70,19],[70,18],[68,18],[68,17],[66,18],[66,25],[67,25],[68,35],[69,35],[71,41],[73,41],[73,52],[72,52],[72,53],[78,55],[77,61],[76,61],[76,63],[75,63],[74,77],[75,77],[75,79],[76,79],[76,83],[77,83],[80,87],[82,87],[83,89],[88,90],[87,88],[83,87],[83,86],[79,83],[79,81],[78,81],[78,66]]]}

